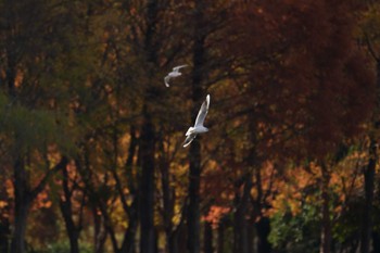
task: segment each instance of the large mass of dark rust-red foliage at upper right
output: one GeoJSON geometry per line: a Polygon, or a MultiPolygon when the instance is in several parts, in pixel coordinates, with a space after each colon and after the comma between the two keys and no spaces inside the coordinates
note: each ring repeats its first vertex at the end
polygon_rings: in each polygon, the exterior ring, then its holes
{"type": "Polygon", "coordinates": [[[373,105],[373,72],[353,38],[354,8],[342,0],[251,1],[236,12],[231,50],[249,72],[246,96],[262,105],[257,122],[292,129],[297,138],[287,147],[295,153],[326,155],[357,134],[373,105]]]}

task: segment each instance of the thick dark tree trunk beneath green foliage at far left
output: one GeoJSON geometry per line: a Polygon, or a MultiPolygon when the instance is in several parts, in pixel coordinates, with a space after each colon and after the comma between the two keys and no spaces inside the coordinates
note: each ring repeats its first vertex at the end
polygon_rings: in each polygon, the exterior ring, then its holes
{"type": "Polygon", "coordinates": [[[27,216],[31,203],[29,194],[29,175],[24,161],[18,157],[14,163],[14,231],[11,253],[25,252],[25,232],[27,216]]]}

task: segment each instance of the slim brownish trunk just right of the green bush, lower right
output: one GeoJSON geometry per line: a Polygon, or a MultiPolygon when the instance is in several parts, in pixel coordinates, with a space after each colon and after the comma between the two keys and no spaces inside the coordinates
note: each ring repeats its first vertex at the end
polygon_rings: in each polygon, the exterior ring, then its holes
{"type": "Polygon", "coordinates": [[[331,220],[330,220],[330,194],[329,182],[330,175],[325,164],[321,165],[321,199],[322,199],[322,219],[321,219],[321,233],[320,233],[320,253],[331,252],[331,220]]]}

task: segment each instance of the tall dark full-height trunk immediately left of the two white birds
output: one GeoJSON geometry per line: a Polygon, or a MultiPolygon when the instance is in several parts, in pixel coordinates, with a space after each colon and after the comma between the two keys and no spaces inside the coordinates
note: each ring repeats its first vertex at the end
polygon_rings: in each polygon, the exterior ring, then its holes
{"type": "MultiPolygon", "coordinates": [[[[147,1],[147,24],[144,35],[144,52],[148,63],[157,63],[157,42],[154,40],[156,35],[156,23],[159,21],[159,1],[147,1]]],[[[152,69],[148,69],[148,77],[154,75],[152,69]]],[[[154,96],[154,89],[150,86],[145,91],[144,104],[142,110],[143,123],[140,136],[140,157],[141,157],[141,177],[139,188],[139,219],[140,219],[140,253],[153,253],[155,251],[154,232],[154,146],[155,134],[152,118],[150,115],[150,101],[154,96]]]]}

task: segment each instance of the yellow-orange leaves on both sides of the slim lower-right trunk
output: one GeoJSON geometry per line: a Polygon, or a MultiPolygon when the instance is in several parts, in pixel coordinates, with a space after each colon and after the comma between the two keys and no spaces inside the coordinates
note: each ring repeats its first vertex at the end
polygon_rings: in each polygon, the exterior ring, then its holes
{"type": "MultiPolygon", "coordinates": [[[[366,150],[366,148],[365,148],[366,150]]],[[[346,201],[363,188],[360,168],[367,164],[367,154],[360,150],[350,152],[340,163],[327,166],[328,189],[331,212],[340,214],[346,201]]],[[[291,167],[276,184],[276,198],[270,201],[271,210],[265,215],[290,211],[293,215],[303,212],[303,206],[321,204],[321,167],[311,162],[306,166],[291,167]]]]}

